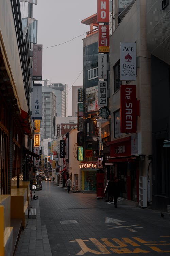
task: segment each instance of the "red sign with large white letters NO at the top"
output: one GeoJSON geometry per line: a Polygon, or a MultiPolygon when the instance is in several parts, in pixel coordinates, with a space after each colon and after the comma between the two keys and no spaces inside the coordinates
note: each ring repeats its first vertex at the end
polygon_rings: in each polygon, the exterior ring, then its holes
{"type": "Polygon", "coordinates": [[[97,0],[97,22],[109,23],[109,0],[97,0]]]}

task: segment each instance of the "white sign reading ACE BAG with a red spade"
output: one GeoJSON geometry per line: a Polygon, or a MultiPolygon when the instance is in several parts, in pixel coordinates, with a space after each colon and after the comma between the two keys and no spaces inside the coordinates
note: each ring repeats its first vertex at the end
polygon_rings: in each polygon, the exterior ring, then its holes
{"type": "Polygon", "coordinates": [[[136,43],[120,43],[120,80],[136,80],[136,43]]]}

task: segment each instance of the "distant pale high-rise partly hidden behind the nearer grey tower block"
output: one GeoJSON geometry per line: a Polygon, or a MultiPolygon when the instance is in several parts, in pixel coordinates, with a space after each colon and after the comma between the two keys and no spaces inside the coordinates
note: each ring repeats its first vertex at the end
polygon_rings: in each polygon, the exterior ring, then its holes
{"type": "Polygon", "coordinates": [[[56,90],[56,116],[67,117],[68,113],[68,85],[52,83],[50,88],[56,90]]]}

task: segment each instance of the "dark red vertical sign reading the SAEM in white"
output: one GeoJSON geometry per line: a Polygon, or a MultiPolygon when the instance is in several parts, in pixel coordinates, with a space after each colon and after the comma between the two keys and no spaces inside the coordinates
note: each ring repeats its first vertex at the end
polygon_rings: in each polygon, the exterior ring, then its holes
{"type": "Polygon", "coordinates": [[[137,100],[136,85],[121,85],[120,87],[120,130],[121,132],[136,132],[137,130],[137,100]]]}

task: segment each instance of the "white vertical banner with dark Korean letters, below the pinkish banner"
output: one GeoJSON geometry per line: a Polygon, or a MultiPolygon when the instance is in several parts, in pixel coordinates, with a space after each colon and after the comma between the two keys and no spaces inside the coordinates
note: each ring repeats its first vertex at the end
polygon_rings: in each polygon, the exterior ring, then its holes
{"type": "Polygon", "coordinates": [[[41,120],[42,119],[42,94],[43,84],[33,84],[33,96],[32,96],[32,118],[41,120]]]}

